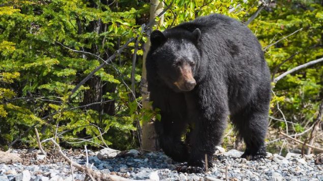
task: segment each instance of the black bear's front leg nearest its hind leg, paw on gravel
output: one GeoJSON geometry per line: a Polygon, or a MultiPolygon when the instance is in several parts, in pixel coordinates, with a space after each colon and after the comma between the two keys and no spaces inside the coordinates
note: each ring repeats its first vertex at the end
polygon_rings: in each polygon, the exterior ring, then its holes
{"type": "MultiPolygon", "coordinates": [[[[220,92],[221,91],[217,91],[220,92]]],[[[190,156],[187,165],[180,165],[180,172],[205,171],[205,155],[208,159],[208,168],[213,167],[213,154],[220,143],[225,130],[228,116],[228,106],[225,94],[215,95],[213,91],[204,91],[198,99],[199,111],[193,116],[195,128],[190,137],[190,156]],[[205,95],[205,96],[204,96],[205,95]],[[210,99],[212,97],[213,99],[210,99]],[[212,103],[211,103],[212,102],[212,103]]]]}

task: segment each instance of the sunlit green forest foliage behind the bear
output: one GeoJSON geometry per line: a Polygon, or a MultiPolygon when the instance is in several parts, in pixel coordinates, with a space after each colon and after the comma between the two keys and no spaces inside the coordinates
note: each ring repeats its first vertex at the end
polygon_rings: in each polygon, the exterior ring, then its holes
{"type": "MultiPolygon", "coordinates": [[[[65,148],[141,147],[142,124],[160,119],[142,107],[151,30],[212,13],[242,21],[263,47],[273,78],[269,150],[300,152],[282,134],[322,148],[322,61],[274,78],[322,59],[323,1],[166,0],[152,28],[150,3],[0,1],[0,148],[37,147],[34,128],[65,148]]],[[[222,146],[234,140],[228,126],[222,146]]]]}

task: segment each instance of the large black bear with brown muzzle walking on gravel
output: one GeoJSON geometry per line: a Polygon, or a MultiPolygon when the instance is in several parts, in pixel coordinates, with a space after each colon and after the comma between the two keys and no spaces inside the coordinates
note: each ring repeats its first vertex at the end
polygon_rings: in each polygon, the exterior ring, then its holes
{"type": "Polygon", "coordinates": [[[182,172],[204,170],[227,118],[246,143],[243,158],[266,156],[270,71],[261,46],[241,22],[220,14],[151,33],[147,81],[160,146],[182,172]],[[182,136],[190,125],[188,144],[182,136]]]}

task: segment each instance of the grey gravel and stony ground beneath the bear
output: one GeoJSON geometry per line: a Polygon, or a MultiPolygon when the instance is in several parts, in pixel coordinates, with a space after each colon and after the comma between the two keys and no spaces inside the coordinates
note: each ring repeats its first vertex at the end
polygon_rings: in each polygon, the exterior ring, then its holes
{"type": "MultiPolygon", "coordinates": [[[[302,157],[288,153],[286,157],[268,154],[266,159],[247,161],[239,158],[241,152],[224,152],[219,148],[216,153],[215,168],[205,173],[178,173],[173,162],[161,152],[144,153],[137,150],[129,152],[101,150],[99,153],[88,151],[69,151],[64,153],[73,161],[104,173],[123,176],[129,179],[150,180],[323,180],[323,166],[318,156],[302,157]],[[118,156],[116,156],[118,155],[118,156]],[[115,157],[116,156],[116,157],[115,157]],[[315,164],[316,159],[316,164],[315,164]]],[[[0,164],[0,181],[3,180],[84,180],[85,174],[63,160],[57,153],[47,153],[44,158],[37,151],[25,154],[25,150],[13,150],[22,158],[21,163],[0,164]],[[72,173],[73,172],[73,173],[72,173]]],[[[2,155],[0,154],[0,162],[2,155]]]]}

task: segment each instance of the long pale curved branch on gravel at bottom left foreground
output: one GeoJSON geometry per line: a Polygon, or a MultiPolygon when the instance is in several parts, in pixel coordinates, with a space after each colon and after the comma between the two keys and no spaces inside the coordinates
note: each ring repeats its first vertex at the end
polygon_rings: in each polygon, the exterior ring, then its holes
{"type": "Polygon", "coordinates": [[[98,180],[98,181],[100,181],[100,180],[111,180],[111,181],[131,181],[131,180],[133,180],[133,179],[127,179],[127,178],[124,178],[121,176],[117,176],[117,175],[110,175],[110,174],[106,174],[106,173],[97,172],[89,167],[84,167],[84,166],[72,161],[70,158],[68,158],[63,153],[60,145],[53,138],[50,138],[48,140],[55,145],[55,147],[58,150],[58,154],[60,154],[70,165],[74,166],[75,168],[77,168],[81,172],[84,172],[86,175],[89,175],[89,177],[93,178],[94,180],[98,180]]]}

